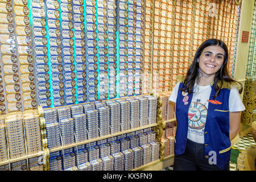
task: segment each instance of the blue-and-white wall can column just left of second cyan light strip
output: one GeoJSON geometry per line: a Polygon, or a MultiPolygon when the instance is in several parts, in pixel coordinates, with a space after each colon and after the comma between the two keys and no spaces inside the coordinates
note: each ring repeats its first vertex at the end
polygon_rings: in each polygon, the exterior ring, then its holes
{"type": "MultiPolygon", "coordinates": [[[[49,35],[49,59],[51,66],[49,71],[52,80],[52,104],[53,106],[63,106],[65,104],[64,74],[63,74],[63,43],[67,37],[67,25],[62,23],[61,13],[64,7],[59,1],[47,1],[47,23],[49,35]],[[65,34],[66,32],[66,34],[65,34]],[[64,35],[64,37],[63,37],[64,35]]],[[[62,13],[63,14],[63,13],[62,13]]]]}

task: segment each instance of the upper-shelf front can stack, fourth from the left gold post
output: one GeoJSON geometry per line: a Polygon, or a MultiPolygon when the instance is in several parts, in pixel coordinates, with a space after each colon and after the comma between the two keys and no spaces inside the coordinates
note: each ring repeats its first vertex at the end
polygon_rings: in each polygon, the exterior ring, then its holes
{"type": "Polygon", "coordinates": [[[98,110],[87,110],[86,111],[86,126],[88,130],[88,139],[97,138],[98,133],[98,110]]]}

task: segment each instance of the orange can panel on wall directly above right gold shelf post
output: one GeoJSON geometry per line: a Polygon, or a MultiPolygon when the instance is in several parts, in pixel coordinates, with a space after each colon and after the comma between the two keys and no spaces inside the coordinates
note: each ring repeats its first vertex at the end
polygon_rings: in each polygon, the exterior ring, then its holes
{"type": "Polygon", "coordinates": [[[171,90],[172,42],[175,1],[156,1],[152,58],[152,91],[171,90]]]}

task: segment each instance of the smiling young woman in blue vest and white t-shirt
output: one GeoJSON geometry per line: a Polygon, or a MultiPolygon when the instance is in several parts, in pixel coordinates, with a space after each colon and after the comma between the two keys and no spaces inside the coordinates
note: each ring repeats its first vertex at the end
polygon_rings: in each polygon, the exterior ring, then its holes
{"type": "Polygon", "coordinates": [[[174,170],[229,170],[230,140],[240,130],[245,106],[242,85],[229,76],[227,63],[226,44],[206,40],[172,90],[169,100],[175,102],[177,119],[174,170]]]}

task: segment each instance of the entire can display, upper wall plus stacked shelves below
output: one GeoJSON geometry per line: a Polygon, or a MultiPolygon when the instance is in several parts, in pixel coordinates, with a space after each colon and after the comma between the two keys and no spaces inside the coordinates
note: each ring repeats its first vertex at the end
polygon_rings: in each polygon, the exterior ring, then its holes
{"type": "Polygon", "coordinates": [[[173,155],[175,125],[158,121],[175,118],[177,76],[208,38],[227,44],[233,75],[240,6],[0,0],[0,169],[130,170],[173,155]]]}

